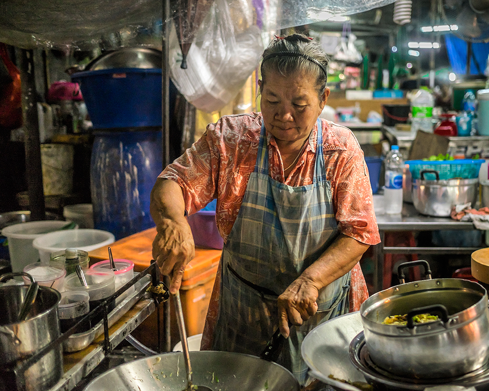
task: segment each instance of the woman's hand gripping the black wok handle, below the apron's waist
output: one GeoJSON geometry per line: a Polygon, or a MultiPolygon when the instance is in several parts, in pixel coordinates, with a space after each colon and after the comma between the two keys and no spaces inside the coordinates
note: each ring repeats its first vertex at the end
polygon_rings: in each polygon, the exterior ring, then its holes
{"type": "Polygon", "coordinates": [[[300,276],[278,297],[280,332],[289,337],[289,324],[301,326],[317,311],[318,289],[311,280],[300,276]]]}

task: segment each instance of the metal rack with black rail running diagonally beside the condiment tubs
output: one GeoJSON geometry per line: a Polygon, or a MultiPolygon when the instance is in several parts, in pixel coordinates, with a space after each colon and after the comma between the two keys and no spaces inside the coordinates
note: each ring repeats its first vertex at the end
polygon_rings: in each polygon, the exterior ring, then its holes
{"type": "MultiPolygon", "coordinates": [[[[103,312],[103,340],[96,340],[97,346],[95,348],[86,349],[87,352],[81,351],[74,353],[73,357],[70,357],[69,369],[66,368],[64,374],[61,379],[58,381],[56,385],[54,385],[49,391],[69,391],[72,390],[76,384],[85,376],[87,376],[100,362],[103,358],[111,353],[112,349],[115,348],[120,342],[122,342],[126,336],[133,331],[145,318],[147,318],[150,314],[152,314],[155,309],[158,313],[158,344],[160,351],[162,351],[162,338],[160,335],[160,325],[159,325],[159,304],[163,301],[166,301],[169,297],[168,291],[162,291],[161,293],[146,293],[139,301],[133,305],[128,312],[116,320],[114,325],[120,325],[109,333],[109,305],[123,294],[128,288],[135,285],[138,282],[144,282],[143,279],[146,279],[147,283],[143,284],[140,291],[146,290],[146,286],[149,285],[149,278],[146,277],[150,275],[151,283],[154,287],[160,284],[159,281],[159,270],[156,265],[156,261],[152,261],[151,265],[148,266],[144,271],[137,274],[131,281],[127,282],[124,286],[118,289],[113,295],[108,297],[105,301],[103,301],[96,308],[90,310],[90,312],[81,319],[77,324],[72,326],[67,332],[63,333],[46,345],[44,348],[39,350],[37,353],[29,356],[25,360],[12,363],[11,365],[0,365],[0,377],[3,379],[4,384],[6,385],[6,389],[12,391],[22,391],[25,390],[25,378],[24,372],[37,363],[45,354],[49,353],[54,348],[59,348],[60,345],[66,343],[68,338],[74,334],[77,330],[77,326],[91,320],[96,315],[103,312]]],[[[112,311],[113,312],[113,311],[112,311]]],[[[165,334],[169,333],[170,330],[164,327],[163,332],[165,334]]],[[[100,338],[99,338],[100,339],[100,338]]],[[[66,364],[66,363],[65,363],[66,364]]]]}

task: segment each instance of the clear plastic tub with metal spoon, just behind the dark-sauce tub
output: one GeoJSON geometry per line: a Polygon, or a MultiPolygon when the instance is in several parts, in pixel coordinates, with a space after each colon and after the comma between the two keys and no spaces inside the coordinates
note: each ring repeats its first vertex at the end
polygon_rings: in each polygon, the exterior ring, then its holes
{"type": "MultiPolygon", "coordinates": [[[[88,292],[90,311],[99,306],[104,300],[115,293],[115,274],[111,270],[99,271],[88,269],[84,270],[87,286],[83,286],[76,273],[70,274],[65,279],[66,290],[80,290],[88,292]]],[[[115,308],[115,302],[109,304],[109,312],[115,308]]],[[[99,316],[92,318],[91,326],[95,326],[103,318],[102,311],[99,316]]]]}

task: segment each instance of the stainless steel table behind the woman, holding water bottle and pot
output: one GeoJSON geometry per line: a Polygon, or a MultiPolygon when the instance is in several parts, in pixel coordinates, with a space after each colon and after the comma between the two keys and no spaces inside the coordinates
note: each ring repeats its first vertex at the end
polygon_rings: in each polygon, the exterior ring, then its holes
{"type": "Polygon", "coordinates": [[[383,212],[383,195],[374,195],[374,210],[377,217],[380,243],[374,246],[374,290],[382,290],[384,254],[472,254],[480,247],[386,247],[385,232],[473,230],[470,221],[457,221],[450,217],[429,217],[421,215],[413,204],[404,202],[400,215],[383,212]]]}

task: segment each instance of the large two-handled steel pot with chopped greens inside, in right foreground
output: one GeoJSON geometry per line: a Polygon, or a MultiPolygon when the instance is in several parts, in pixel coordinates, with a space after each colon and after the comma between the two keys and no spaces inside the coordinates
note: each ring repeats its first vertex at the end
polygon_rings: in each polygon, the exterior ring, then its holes
{"type": "MultiPolygon", "coordinates": [[[[453,377],[481,368],[489,357],[488,294],[477,282],[462,279],[402,283],[380,291],[360,307],[365,343],[372,361],[398,376],[453,377]],[[392,315],[446,308],[441,320],[419,325],[383,325],[392,315]],[[430,306],[430,308],[426,308],[430,306]]],[[[400,278],[403,276],[400,273],[400,278]]]]}

